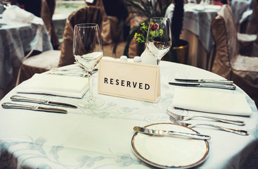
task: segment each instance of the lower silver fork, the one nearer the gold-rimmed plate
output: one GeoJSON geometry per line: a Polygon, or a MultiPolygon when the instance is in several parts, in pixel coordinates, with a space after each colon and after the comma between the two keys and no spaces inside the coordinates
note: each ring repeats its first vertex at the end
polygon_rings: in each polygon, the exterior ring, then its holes
{"type": "Polygon", "coordinates": [[[207,124],[207,123],[198,123],[198,124],[183,123],[179,120],[176,120],[176,119],[172,118],[172,116],[169,116],[169,119],[175,124],[183,125],[183,126],[186,126],[186,127],[189,127],[189,128],[195,127],[197,125],[207,125],[207,126],[210,126],[210,127],[218,128],[220,130],[224,130],[226,132],[231,132],[231,133],[245,135],[245,136],[249,135],[249,133],[245,130],[236,130],[236,129],[231,129],[231,128],[227,128],[227,127],[221,127],[219,125],[207,124]]]}

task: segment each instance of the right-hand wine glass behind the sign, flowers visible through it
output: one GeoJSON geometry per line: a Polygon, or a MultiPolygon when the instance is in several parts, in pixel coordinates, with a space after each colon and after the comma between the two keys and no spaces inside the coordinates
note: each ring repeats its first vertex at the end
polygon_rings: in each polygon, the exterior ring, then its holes
{"type": "Polygon", "coordinates": [[[160,64],[161,58],[167,54],[171,45],[172,32],[169,18],[150,18],[146,37],[146,46],[148,50],[155,55],[157,65],[160,64]]]}

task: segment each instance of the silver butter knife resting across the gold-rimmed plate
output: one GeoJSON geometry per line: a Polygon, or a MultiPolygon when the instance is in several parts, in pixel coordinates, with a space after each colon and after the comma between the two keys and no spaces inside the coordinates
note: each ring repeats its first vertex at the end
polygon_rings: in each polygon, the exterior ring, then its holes
{"type": "Polygon", "coordinates": [[[164,136],[182,136],[182,137],[190,137],[193,139],[211,139],[208,135],[188,133],[188,132],[174,132],[174,131],[165,131],[165,130],[152,130],[143,127],[134,127],[134,131],[141,132],[143,134],[152,134],[152,135],[164,135],[164,136]]]}

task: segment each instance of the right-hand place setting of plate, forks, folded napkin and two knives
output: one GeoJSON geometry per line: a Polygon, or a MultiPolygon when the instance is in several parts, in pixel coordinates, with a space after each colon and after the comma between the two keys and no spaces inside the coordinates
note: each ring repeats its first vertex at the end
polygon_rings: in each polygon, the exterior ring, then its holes
{"type": "Polygon", "coordinates": [[[157,168],[193,168],[209,158],[209,142],[217,137],[212,131],[250,134],[245,120],[252,110],[233,81],[176,77],[168,84],[175,86],[165,111],[171,123],[134,126],[131,146],[141,161],[157,168]],[[212,136],[198,132],[201,127],[212,136]]]}

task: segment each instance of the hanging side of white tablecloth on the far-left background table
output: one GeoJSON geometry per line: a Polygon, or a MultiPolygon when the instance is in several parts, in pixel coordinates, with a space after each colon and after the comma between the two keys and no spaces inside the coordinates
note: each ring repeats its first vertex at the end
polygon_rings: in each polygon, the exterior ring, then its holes
{"type": "MultiPolygon", "coordinates": [[[[1,19],[0,19],[1,21],[1,19]]],[[[15,86],[22,59],[31,50],[53,49],[44,25],[15,24],[0,27],[0,98],[15,86]]]]}

